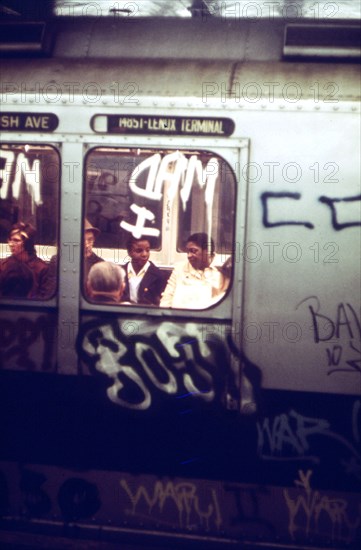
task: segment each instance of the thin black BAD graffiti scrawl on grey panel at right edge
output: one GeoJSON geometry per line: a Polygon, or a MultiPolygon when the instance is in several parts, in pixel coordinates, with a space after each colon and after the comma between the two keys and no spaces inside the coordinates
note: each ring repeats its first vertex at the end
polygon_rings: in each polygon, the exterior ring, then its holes
{"type": "Polygon", "coordinates": [[[309,300],[308,309],[312,319],[314,342],[333,344],[326,348],[328,374],[335,372],[361,373],[361,314],[349,303],[339,303],[335,315],[330,317],[320,313],[321,304],[317,296],[308,296],[300,302],[296,309],[309,300]],[[355,340],[357,343],[355,343],[355,340]],[[344,344],[348,341],[348,345],[344,344]],[[334,344],[334,342],[337,342],[334,344]]]}

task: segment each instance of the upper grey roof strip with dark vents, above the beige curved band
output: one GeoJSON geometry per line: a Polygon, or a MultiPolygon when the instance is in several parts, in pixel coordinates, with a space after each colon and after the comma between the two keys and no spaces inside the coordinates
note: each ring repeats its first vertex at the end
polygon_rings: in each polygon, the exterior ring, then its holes
{"type": "Polygon", "coordinates": [[[355,20],[58,17],[0,22],[2,56],[359,61],[355,20]]]}

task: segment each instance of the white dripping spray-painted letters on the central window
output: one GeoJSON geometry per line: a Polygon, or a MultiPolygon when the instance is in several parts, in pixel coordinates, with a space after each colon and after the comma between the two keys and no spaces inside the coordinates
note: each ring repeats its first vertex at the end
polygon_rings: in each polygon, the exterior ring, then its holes
{"type": "MultiPolygon", "coordinates": [[[[185,210],[196,178],[200,188],[205,189],[207,232],[211,234],[213,197],[218,173],[219,163],[214,157],[210,158],[206,166],[203,167],[202,161],[196,155],[192,155],[187,159],[183,153],[175,151],[164,155],[162,158],[159,153],[156,153],[143,160],[133,170],[129,187],[135,195],[153,201],[160,201],[163,187],[167,184],[167,199],[172,203],[181,186],[180,198],[185,210]],[[143,188],[138,185],[138,178],[145,170],[149,170],[149,172],[146,185],[143,188]]],[[[132,204],[130,209],[136,214],[137,221],[135,225],[126,221],[120,222],[122,229],[132,233],[135,238],[140,238],[142,235],[155,237],[159,235],[159,229],[145,225],[147,221],[155,219],[151,210],[137,204],[132,204]]]]}

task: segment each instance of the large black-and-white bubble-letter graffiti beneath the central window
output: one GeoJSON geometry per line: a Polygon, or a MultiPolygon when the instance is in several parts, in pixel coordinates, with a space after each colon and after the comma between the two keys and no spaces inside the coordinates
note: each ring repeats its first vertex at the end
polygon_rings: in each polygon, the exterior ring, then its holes
{"type": "Polygon", "coordinates": [[[144,323],[145,334],[141,335],[134,325],[92,320],[81,325],[78,334],[80,359],[92,374],[106,375],[111,381],[107,396],[113,403],[146,411],[160,396],[173,397],[174,403],[185,396],[205,404],[224,404],[226,399],[238,402],[241,384],[235,365],[242,360],[242,386],[247,388],[246,402],[252,402],[248,413],[256,412],[261,371],[230,335],[227,343],[217,335],[206,341],[203,325],[169,322],[156,329],[144,323]],[[231,355],[236,357],[234,364],[231,355]]]}

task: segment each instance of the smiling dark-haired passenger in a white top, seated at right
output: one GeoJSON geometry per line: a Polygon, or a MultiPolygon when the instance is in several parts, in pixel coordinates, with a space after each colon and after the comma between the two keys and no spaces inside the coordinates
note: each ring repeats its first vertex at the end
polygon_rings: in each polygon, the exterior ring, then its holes
{"type": "Polygon", "coordinates": [[[204,309],[222,292],[222,276],[212,265],[214,242],[206,233],[194,233],[187,239],[188,260],[175,265],[160,301],[161,307],[204,309]]]}

